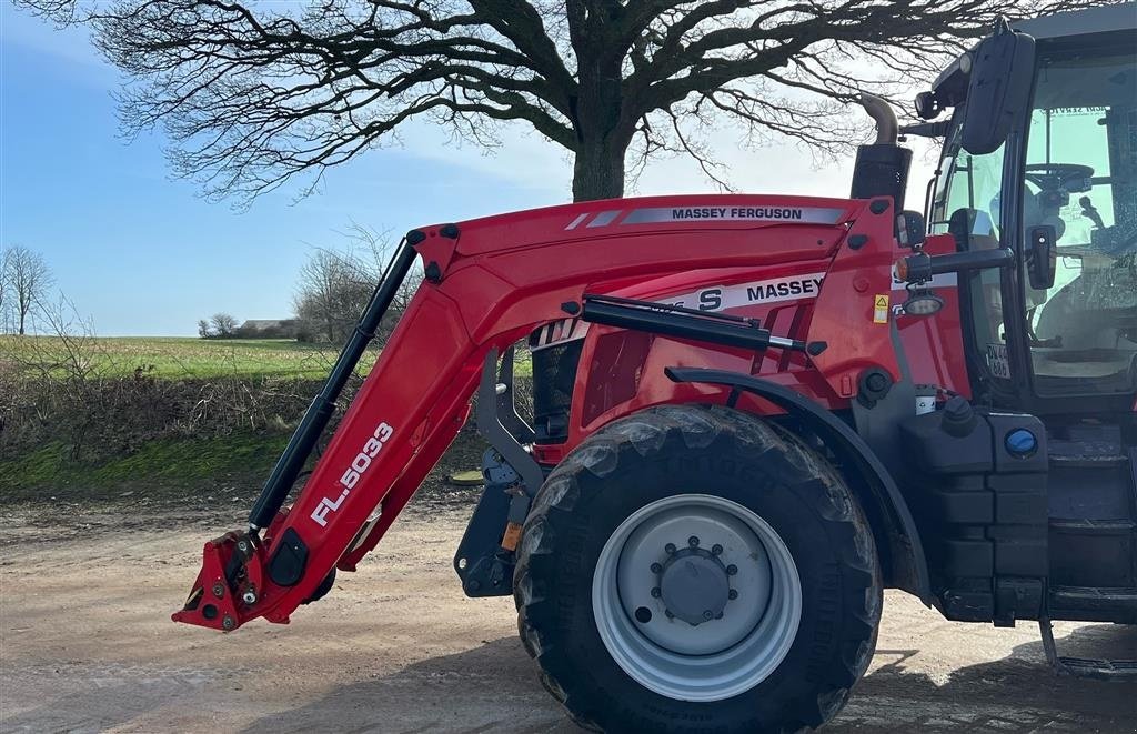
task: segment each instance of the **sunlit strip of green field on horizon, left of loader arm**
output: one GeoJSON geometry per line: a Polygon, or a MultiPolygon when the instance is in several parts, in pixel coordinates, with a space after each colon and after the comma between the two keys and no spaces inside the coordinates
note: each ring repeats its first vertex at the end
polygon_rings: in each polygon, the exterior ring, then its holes
{"type": "MultiPolygon", "coordinates": [[[[285,339],[173,336],[80,337],[68,347],[55,336],[0,336],[0,362],[17,369],[64,374],[78,362],[99,376],[142,374],[159,379],[208,377],[307,377],[327,374],[338,349],[285,339]]],[[[360,361],[363,369],[375,356],[360,361]]]]}

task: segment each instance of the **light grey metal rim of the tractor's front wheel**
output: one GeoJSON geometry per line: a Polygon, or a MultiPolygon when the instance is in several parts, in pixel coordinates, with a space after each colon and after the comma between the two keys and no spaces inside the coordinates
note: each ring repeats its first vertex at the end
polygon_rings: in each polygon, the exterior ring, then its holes
{"type": "Polygon", "coordinates": [[[777,532],[709,494],[641,507],[592,575],[592,614],[616,664],[681,701],[721,701],[762,683],[789,652],[802,583],[777,532]]]}

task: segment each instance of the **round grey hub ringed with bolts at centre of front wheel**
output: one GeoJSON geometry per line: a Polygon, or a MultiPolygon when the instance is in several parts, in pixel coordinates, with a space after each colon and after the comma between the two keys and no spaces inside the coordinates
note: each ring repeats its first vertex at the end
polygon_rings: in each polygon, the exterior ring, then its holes
{"type": "Polygon", "coordinates": [[[722,617],[730,595],[727,567],[702,548],[672,553],[663,565],[658,583],[666,614],[691,625],[722,617]]]}

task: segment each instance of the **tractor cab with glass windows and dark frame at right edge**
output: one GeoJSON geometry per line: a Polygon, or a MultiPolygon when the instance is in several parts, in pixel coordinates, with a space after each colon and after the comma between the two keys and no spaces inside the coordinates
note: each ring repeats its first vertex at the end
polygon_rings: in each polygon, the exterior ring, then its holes
{"type": "Polygon", "coordinates": [[[1036,415],[1137,395],[1137,10],[1052,16],[984,41],[918,99],[954,114],[927,217],[961,251],[977,394],[1036,415]]]}

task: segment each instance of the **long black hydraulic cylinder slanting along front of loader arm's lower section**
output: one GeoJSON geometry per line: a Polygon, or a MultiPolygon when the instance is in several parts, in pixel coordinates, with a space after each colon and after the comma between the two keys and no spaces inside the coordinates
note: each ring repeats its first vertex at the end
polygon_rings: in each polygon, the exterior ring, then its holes
{"type": "Polygon", "coordinates": [[[292,483],[304,469],[305,461],[308,460],[316,441],[324,433],[327,422],[335,411],[337,398],[340,397],[351,372],[359,364],[367,344],[375,337],[375,330],[379,328],[380,322],[383,320],[383,316],[391,307],[410,266],[414,265],[415,255],[415,249],[406,241],[399,244],[395,257],[387,266],[387,272],[383,273],[382,280],[375,286],[375,292],[372,293],[371,301],[359,318],[351,339],[343,345],[319,394],[304,414],[304,418],[289,440],[284,453],[276,461],[273,473],[268,475],[268,481],[260,490],[260,497],[257,498],[252,511],[249,512],[250,529],[267,527],[288,498],[292,483]]]}

